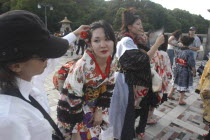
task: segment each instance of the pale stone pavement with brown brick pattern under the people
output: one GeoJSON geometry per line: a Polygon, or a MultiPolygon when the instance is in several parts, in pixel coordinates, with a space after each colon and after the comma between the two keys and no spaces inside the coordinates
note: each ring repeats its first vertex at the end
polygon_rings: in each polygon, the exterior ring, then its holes
{"type": "MultiPolygon", "coordinates": [[[[75,57],[63,56],[56,70],[75,57]]],[[[197,66],[200,63],[197,62],[197,66]]],[[[51,116],[56,121],[59,93],[52,84],[53,74],[49,74],[44,86],[48,94],[51,116]]],[[[196,76],[194,78],[194,88],[198,82],[199,76],[196,76]]],[[[158,123],[146,127],[145,140],[202,140],[202,135],[207,133],[208,127],[202,122],[202,101],[200,96],[194,91],[186,93],[186,106],[178,105],[179,96],[176,91],[174,97],[176,100],[168,100],[155,110],[154,118],[158,120],[158,123]]]]}

